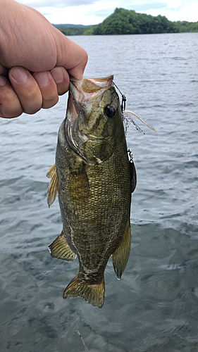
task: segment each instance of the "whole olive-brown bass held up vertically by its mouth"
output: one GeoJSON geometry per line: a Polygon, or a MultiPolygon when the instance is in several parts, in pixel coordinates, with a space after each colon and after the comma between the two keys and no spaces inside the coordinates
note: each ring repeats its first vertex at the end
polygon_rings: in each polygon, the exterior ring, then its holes
{"type": "Polygon", "coordinates": [[[78,257],[79,270],[63,298],[104,305],[104,270],[110,257],[118,279],[131,246],[131,194],[136,171],[128,158],[120,101],[113,75],[70,77],[66,118],[58,131],[47,203],[58,194],[63,230],[49,246],[52,257],[78,257]]]}

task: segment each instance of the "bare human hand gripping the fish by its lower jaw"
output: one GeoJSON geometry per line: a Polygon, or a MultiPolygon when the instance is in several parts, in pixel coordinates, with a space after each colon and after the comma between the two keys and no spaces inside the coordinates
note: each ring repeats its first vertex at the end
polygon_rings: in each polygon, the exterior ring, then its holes
{"type": "Polygon", "coordinates": [[[51,108],[82,78],[87,53],[35,9],[0,0],[0,116],[51,108]]]}

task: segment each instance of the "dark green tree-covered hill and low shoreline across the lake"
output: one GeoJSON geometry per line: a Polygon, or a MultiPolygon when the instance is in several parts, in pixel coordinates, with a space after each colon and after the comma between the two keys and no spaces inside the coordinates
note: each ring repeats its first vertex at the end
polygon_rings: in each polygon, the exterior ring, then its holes
{"type": "Polygon", "coordinates": [[[198,32],[198,22],[172,22],[165,16],[151,16],[136,13],[125,8],[116,8],[99,25],[54,25],[66,35],[106,35],[106,34],[154,34],[198,32]]]}

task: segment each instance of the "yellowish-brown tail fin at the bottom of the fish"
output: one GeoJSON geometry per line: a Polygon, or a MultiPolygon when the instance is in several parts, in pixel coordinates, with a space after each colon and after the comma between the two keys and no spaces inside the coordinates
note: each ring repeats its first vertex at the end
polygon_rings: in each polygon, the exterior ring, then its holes
{"type": "Polygon", "coordinates": [[[99,284],[89,284],[79,279],[79,273],[66,287],[63,298],[82,297],[94,307],[101,308],[104,304],[104,277],[99,284]]]}

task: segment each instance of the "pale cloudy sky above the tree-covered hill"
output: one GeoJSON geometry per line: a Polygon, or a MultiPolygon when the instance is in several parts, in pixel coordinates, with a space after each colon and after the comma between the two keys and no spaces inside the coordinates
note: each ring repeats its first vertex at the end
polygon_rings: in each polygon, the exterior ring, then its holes
{"type": "Polygon", "coordinates": [[[18,0],[36,8],[51,23],[95,25],[111,15],[116,7],[147,15],[165,15],[168,20],[197,22],[197,0],[18,0]]]}

